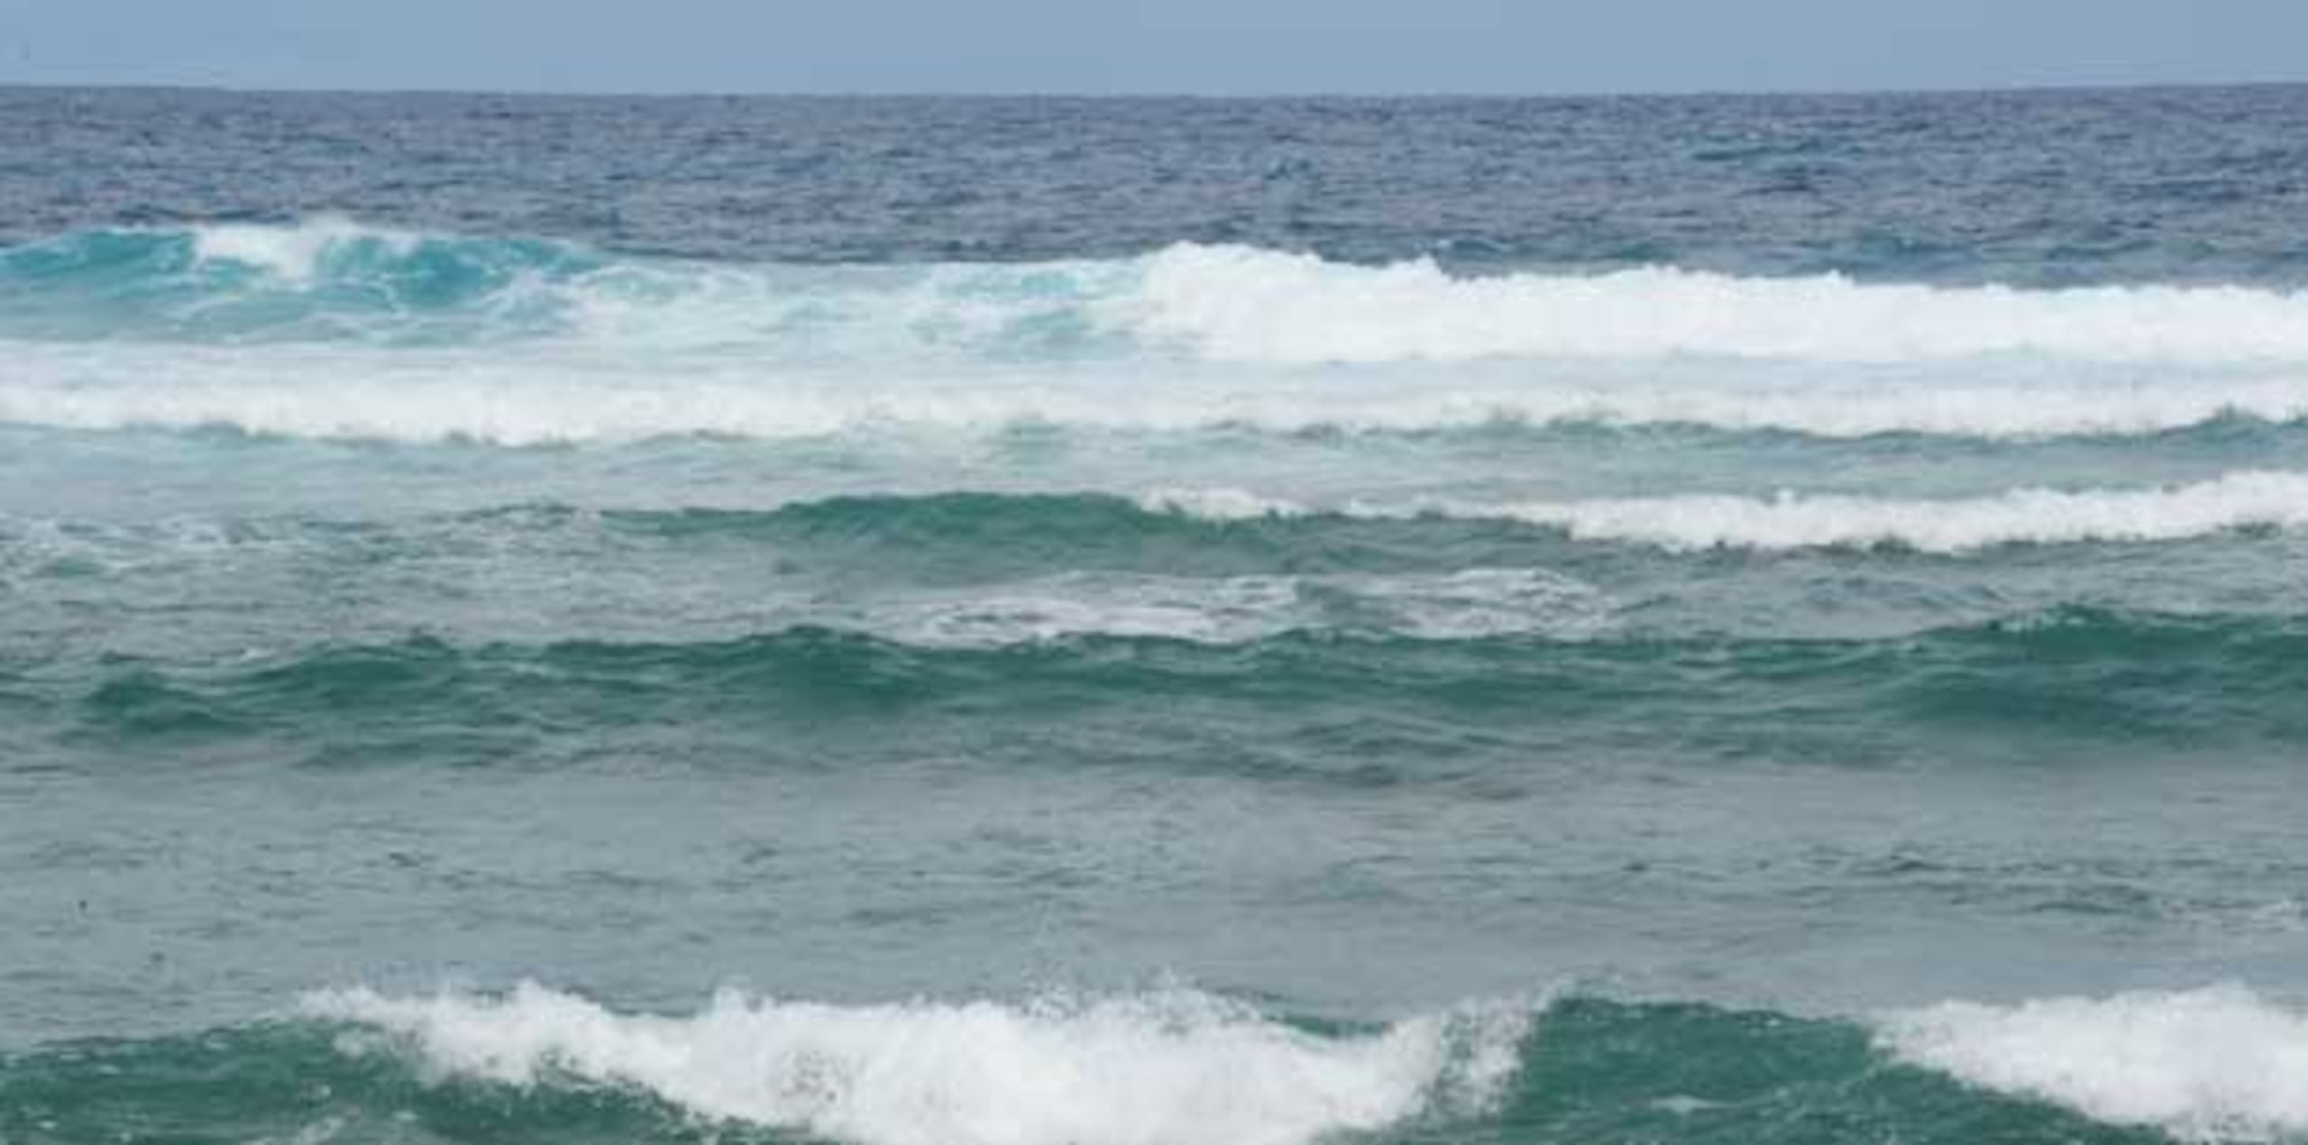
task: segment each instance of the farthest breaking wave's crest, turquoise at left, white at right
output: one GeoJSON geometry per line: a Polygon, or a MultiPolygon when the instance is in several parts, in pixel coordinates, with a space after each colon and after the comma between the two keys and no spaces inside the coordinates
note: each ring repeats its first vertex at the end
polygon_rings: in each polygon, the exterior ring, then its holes
{"type": "Polygon", "coordinates": [[[420,270],[434,284],[462,275],[466,295],[505,291],[515,286],[508,272],[524,268],[542,272],[568,302],[658,305],[660,323],[690,309],[713,319],[722,335],[743,330],[748,312],[805,302],[819,319],[916,330],[983,316],[1064,316],[1133,342],[1246,362],[1673,356],[2308,362],[2308,295],[2253,286],[1920,286],[1664,265],[1459,277],[1433,261],[1359,265],[1191,242],[1131,259],[1050,263],[706,263],[321,217],[286,226],[67,233],[0,249],[0,289],[72,293],[141,284],[203,286],[215,295],[300,289],[349,302],[349,286],[390,286],[420,270]],[[231,268],[258,277],[187,277],[231,268]]]}

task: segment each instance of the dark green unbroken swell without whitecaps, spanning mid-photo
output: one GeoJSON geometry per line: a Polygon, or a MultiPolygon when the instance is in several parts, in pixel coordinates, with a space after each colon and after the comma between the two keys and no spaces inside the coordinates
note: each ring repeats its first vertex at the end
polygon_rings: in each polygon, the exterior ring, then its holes
{"type": "MultiPolygon", "coordinates": [[[[1348,720],[1456,750],[1507,736],[1521,750],[1673,743],[1701,757],[1869,762],[2047,743],[2299,743],[2299,695],[2308,630],[2296,621],[2100,609],[1899,639],[1295,633],[1232,646],[1085,635],[951,649],[794,628],[690,644],[411,637],[226,672],[113,663],[78,699],[72,734],[279,741],[307,759],[554,759],[586,736],[619,753],[676,725],[769,746],[782,736],[766,729],[808,727],[847,753],[891,743],[907,723],[1138,727],[1200,713],[1276,746],[1318,743],[1348,720]]],[[[1202,748],[1179,746],[1186,757],[1202,748]]]]}

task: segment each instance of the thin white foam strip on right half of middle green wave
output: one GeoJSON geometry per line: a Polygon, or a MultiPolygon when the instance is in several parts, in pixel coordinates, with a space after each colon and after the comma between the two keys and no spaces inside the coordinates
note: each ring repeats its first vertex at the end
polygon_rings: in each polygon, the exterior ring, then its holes
{"type": "Polygon", "coordinates": [[[2246,526],[2308,526],[2308,473],[2241,471],[2195,485],[2146,489],[2010,489],[1969,499],[1634,496],[1595,501],[1346,501],[1309,506],[1239,489],[1166,489],[1142,499],[1156,512],[1219,522],[1244,517],[1503,519],[1563,529],[1576,540],[1627,540],[1666,549],[1805,549],[1902,545],[1969,552],[1992,545],[2086,540],[2186,540],[2246,526]]]}

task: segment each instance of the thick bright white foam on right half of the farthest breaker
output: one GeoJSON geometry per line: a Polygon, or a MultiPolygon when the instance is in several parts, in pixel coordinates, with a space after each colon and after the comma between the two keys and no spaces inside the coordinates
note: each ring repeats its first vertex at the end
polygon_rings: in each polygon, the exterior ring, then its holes
{"type": "Polygon", "coordinates": [[[2308,360],[2308,295],[2243,286],[1941,289],[1673,268],[1452,277],[1429,261],[1364,268],[1251,247],[1170,247],[1147,259],[1138,291],[1108,312],[1202,353],[1256,362],[2308,360]]]}

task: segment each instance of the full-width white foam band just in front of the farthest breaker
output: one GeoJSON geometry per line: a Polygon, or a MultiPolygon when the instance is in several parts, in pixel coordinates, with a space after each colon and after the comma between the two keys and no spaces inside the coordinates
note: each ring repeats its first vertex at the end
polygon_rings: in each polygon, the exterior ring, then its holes
{"type": "Polygon", "coordinates": [[[152,346],[0,339],[0,420],[76,429],[222,425],[284,436],[508,446],[667,434],[819,436],[900,425],[1191,432],[1419,432],[1496,422],[1713,425],[1821,436],[1923,432],[1985,439],[2151,434],[2223,416],[2308,418],[2299,379],[2167,386],[1897,386],[1835,379],[1754,386],[1500,379],[1385,369],[1373,376],[1244,376],[1140,362],[1108,372],[935,372],[919,362],[824,365],[727,356],[593,356],[568,346],[152,346]]]}

